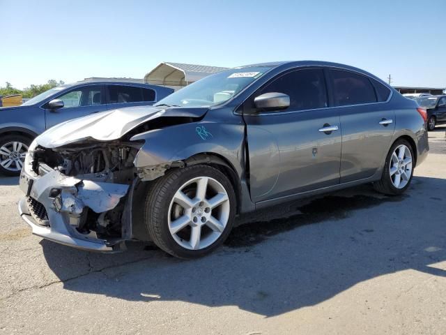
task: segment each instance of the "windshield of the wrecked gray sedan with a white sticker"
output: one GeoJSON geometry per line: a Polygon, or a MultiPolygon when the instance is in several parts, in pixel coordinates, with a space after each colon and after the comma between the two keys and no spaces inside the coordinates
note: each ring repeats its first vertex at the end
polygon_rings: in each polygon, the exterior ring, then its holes
{"type": "Polygon", "coordinates": [[[215,73],[176,91],[155,106],[210,107],[224,103],[268,70],[270,66],[253,66],[215,73]]]}

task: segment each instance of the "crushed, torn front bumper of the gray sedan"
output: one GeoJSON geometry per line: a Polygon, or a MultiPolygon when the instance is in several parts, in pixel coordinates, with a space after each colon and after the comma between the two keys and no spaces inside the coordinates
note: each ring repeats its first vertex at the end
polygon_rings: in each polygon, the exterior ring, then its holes
{"type": "Polygon", "coordinates": [[[119,251],[121,244],[98,239],[77,230],[84,207],[96,213],[109,211],[127,193],[128,185],[86,181],[66,177],[57,170],[43,176],[22,170],[20,188],[26,194],[19,214],[33,234],[79,249],[119,251]]]}

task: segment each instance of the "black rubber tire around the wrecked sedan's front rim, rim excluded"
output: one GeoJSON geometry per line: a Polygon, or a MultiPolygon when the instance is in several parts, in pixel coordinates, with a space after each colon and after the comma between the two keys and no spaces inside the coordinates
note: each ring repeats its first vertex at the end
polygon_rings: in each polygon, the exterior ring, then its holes
{"type": "MultiPolygon", "coordinates": [[[[172,255],[175,255],[176,257],[179,258],[199,258],[203,255],[207,255],[208,253],[212,252],[215,248],[220,246],[224,242],[224,240],[226,240],[226,238],[229,236],[229,233],[231,232],[233,227],[233,221],[236,214],[236,195],[233,191],[233,186],[229,181],[229,179],[222,172],[220,172],[220,170],[212,168],[208,165],[192,165],[188,168],[180,170],[180,173],[177,174],[177,176],[175,176],[174,174],[170,175],[167,174],[167,176],[164,177],[164,179],[169,179],[172,177],[175,177],[175,179],[169,185],[168,191],[164,193],[164,195],[160,195],[161,198],[159,200],[162,201],[162,206],[161,206],[162,213],[159,216],[159,218],[161,222],[155,223],[153,221],[148,221],[148,222],[146,221],[146,224],[158,225],[158,228],[160,229],[160,237],[162,239],[162,244],[157,243],[156,237],[154,238],[152,236],[152,238],[155,244],[157,244],[164,251],[167,251],[167,253],[171,253],[172,255]],[[190,179],[194,179],[196,177],[211,177],[219,181],[220,184],[222,184],[229,198],[230,213],[224,232],[213,244],[200,250],[190,250],[187,248],[183,248],[183,246],[180,246],[175,241],[174,237],[171,236],[167,222],[169,215],[169,206],[176,191],[178,191],[178,189],[181,186],[183,186],[183,184],[185,184],[187,181],[189,181],[190,179]]],[[[151,213],[147,212],[152,210],[153,209],[148,208],[146,206],[146,218],[152,218],[153,220],[153,216],[151,216],[151,213]]],[[[151,229],[149,229],[149,232],[150,231],[151,229]]]]}

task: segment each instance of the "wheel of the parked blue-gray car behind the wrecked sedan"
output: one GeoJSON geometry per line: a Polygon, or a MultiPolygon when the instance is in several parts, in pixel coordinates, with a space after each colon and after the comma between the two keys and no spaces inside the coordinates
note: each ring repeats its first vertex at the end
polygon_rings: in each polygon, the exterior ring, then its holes
{"type": "Polygon", "coordinates": [[[24,135],[0,137],[0,174],[18,176],[32,140],[24,135]]]}

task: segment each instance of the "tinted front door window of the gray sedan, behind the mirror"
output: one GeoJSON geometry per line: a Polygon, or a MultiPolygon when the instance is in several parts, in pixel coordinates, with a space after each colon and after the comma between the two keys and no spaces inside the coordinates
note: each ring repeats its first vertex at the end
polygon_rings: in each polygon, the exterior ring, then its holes
{"type": "Polygon", "coordinates": [[[273,80],[256,96],[278,92],[288,94],[290,107],[286,110],[312,110],[327,107],[327,91],[321,69],[295,70],[273,80]]]}

